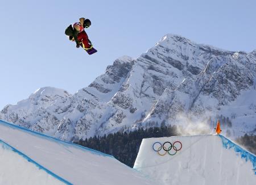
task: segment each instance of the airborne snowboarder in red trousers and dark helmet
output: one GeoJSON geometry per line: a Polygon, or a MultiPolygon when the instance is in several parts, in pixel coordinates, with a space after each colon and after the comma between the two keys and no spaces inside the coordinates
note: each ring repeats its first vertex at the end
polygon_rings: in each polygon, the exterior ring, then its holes
{"type": "Polygon", "coordinates": [[[85,28],[89,28],[92,23],[89,19],[80,18],[79,22],[74,23],[67,27],[65,30],[65,35],[69,36],[69,40],[76,41],[76,47],[80,46],[88,54],[96,53],[97,50],[92,47],[92,42],[89,40],[88,35],[85,32],[85,28]]]}

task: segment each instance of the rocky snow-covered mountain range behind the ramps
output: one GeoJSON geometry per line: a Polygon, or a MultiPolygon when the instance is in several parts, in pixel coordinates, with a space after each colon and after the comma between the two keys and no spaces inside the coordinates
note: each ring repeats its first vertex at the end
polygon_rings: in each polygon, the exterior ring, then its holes
{"type": "Polygon", "coordinates": [[[138,127],[183,125],[186,133],[256,133],[256,50],[231,52],[168,34],[137,59],[120,57],[71,95],[43,87],[0,118],[62,140],[138,127]]]}

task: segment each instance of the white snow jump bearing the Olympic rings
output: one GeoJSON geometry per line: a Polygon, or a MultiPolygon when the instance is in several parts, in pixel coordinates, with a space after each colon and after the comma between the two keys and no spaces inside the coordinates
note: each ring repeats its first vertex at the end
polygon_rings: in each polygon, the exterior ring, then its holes
{"type": "MultiPolygon", "coordinates": [[[[170,146],[164,144],[166,150],[170,146]]],[[[159,184],[256,184],[256,156],[221,135],[143,139],[134,169],[159,184]],[[174,155],[160,147],[164,142],[174,144],[169,152],[174,155]]]]}

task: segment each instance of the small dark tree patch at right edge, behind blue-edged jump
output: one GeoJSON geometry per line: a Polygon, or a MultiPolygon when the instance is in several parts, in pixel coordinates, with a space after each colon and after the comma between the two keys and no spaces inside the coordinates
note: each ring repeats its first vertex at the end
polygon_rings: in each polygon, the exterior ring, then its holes
{"type": "Polygon", "coordinates": [[[237,138],[237,143],[244,146],[249,152],[256,155],[256,135],[247,133],[237,138]]]}

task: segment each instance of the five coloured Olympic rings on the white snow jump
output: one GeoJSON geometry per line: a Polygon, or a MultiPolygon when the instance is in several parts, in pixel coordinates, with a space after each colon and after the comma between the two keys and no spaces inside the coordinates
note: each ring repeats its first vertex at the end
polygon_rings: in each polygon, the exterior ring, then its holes
{"type": "Polygon", "coordinates": [[[181,150],[182,144],[180,141],[175,141],[173,144],[171,144],[171,142],[169,141],[166,141],[164,142],[163,145],[160,142],[155,142],[152,148],[155,152],[157,152],[159,155],[162,155],[162,156],[167,153],[169,155],[175,155],[177,151],[181,150]],[[160,153],[160,150],[162,149],[164,150],[164,152],[160,153]]]}

